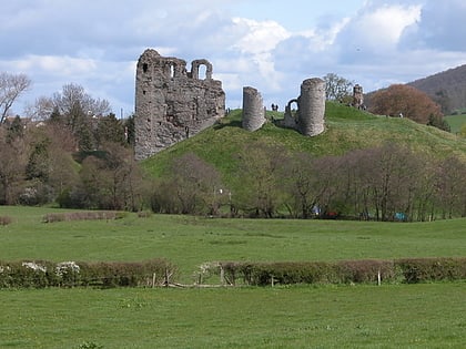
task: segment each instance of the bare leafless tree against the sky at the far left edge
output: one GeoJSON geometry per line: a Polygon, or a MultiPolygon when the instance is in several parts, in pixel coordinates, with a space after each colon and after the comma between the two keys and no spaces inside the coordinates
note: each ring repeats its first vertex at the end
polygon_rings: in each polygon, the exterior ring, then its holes
{"type": "Polygon", "coordinates": [[[14,101],[31,86],[26,74],[0,73],[0,124],[4,122],[14,101]]]}

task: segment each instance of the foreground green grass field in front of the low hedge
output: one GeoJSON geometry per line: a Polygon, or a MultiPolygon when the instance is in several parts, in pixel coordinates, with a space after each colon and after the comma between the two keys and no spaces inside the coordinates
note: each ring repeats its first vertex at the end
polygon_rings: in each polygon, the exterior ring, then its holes
{"type": "Polygon", "coordinates": [[[0,348],[464,348],[465,289],[1,290],[0,348]]]}

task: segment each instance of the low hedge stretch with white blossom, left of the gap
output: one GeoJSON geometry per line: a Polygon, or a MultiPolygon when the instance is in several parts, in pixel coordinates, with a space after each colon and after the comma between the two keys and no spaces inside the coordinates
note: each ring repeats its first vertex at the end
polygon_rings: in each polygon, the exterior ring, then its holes
{"type": "Polygon", "coordinates": [[[155,287],[169,285],[176,268],[165,259],[145,261],[0,261],[0,288],[155,287]]]}

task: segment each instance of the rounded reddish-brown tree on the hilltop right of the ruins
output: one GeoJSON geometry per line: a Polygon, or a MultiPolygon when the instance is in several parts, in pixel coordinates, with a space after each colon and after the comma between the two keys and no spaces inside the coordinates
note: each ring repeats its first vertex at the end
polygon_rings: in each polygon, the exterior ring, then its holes
{"type": "Polygon", "coordinates": [[[403,115],[422,124],[427,124],[430,117],[443,117],[440,106],[426,93],[405,84],[393,84],[375,92],[369,111],[381,115],[403,115]]]}

